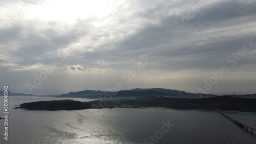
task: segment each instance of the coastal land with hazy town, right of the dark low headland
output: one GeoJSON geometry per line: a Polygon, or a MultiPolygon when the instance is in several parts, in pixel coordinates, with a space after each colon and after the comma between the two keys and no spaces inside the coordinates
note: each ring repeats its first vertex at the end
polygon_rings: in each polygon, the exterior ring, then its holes
{"type": "Polygon", "coordinates": [[[136,99],[113,99],[111,101],[91,101],[88,104],[105,104],[101,107],[169,107],[175,109],[205,109],[232,110],[256,112],[256,99],[233,98],[218,96],[212,98],[168,98],[168,97],[141,97],[136,99]]]}

